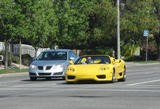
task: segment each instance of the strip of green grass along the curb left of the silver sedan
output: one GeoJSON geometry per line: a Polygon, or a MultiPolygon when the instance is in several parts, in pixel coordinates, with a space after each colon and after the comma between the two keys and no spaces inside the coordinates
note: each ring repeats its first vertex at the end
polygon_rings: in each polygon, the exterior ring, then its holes
{"type": "Polygon", "coordinates": [[[7,73],[20,73],[20,72],[28,72],[28,69],[2,69],[0,70],[0,74],[7,74],[7,73]]]}

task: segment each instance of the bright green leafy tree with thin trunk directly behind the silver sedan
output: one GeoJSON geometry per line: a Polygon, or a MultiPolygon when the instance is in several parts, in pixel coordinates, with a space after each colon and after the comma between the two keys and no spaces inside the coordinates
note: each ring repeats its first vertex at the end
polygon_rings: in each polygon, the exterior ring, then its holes
{"type": "Polygon", "coordinates": [[[56,16],[52,0],[16,0],[29,22],[28,42],[35,47],[35,56],[39,47],[54,45],[56,39],[56,16]],[[51,42],[51,43],[50,43],[51,42]]]}

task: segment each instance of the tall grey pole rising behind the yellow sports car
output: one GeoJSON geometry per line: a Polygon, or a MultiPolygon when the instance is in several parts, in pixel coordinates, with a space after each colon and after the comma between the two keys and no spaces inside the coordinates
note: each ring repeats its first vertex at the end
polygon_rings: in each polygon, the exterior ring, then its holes
{"type": "Polygon", "coordinates": [[[120,11],[119,11],[119,0],[117,0],[117,58],[120,59],[120,11]]]}

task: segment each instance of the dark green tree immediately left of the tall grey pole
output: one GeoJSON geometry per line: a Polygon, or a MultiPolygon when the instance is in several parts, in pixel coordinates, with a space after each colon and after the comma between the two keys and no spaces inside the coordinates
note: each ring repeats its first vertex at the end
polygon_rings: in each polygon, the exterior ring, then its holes
{"type": "Polygon", "coordinates": [[[113,1],[95,0],[93,11],[89,14],[89,48],[116,49],[116,7],[113,1]]]}

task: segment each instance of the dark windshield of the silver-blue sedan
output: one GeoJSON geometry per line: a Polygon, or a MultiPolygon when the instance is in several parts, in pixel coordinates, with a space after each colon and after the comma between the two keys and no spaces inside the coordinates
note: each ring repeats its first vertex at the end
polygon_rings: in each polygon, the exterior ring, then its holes
{"type": "Polygon", "coordinates": [[[67,60],[67,52],[64,51],[47,51],[42,52],[36,60],[67,60]]]}

